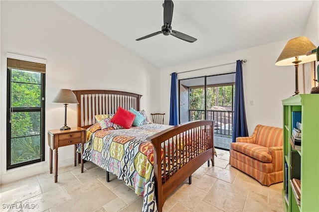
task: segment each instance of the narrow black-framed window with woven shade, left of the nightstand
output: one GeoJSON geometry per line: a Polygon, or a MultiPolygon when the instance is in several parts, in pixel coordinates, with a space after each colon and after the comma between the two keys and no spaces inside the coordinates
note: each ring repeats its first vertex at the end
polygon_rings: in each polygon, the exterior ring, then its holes
{"type": "Polygon", "coordinates": [[[7,58],[7,169],[44,161],[45,64],[7,58]]]}

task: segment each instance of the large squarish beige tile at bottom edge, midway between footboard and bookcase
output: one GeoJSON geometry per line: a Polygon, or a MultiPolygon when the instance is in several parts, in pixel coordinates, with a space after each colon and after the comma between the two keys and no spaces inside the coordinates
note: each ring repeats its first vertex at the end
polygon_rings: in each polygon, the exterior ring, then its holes
{"type": "Polygon", "coordinates": [[[227,212],[239,212],[244,208],[248,191],[244,185],[217,180],[204,197],[203,202],[227,212]]]}

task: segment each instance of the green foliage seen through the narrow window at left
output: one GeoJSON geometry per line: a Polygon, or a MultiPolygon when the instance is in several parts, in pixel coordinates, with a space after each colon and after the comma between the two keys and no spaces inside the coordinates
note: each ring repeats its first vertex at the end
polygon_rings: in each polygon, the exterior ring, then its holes
{"type": "MultiPolygon", "coordinates": [[[[41,73],[11,70],[11,108],[41,107],[41,73]]],[[[40,158],[40,111],[11,111],[11,164],[40,158]]]]}

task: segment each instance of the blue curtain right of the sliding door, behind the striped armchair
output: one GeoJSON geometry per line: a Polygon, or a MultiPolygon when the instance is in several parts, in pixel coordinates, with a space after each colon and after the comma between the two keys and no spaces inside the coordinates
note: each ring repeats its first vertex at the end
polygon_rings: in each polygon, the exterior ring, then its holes
{"type": "Polygon", "coordinates": [[[242,61],[237,60],[236,79],[235,79],[235,104],[234,104],[234,119],[232,142],[236,142],[237,137],[248,136],[244,88],[243,88],[243,67],[242,61]]]}

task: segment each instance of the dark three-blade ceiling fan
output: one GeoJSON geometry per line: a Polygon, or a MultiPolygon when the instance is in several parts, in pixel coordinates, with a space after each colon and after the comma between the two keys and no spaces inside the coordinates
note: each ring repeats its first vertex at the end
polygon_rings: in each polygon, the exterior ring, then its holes
{"type": "Polygon", "coordinates": [[[177,37],[181,40],[184,40],[184,41],[187,41],[190,43],[195,42],[197,40],[196,38],[171,29],[170,24],[171,24],[171,19],[173,16],[173,7],[174,7],[173,1],[172,0],[164,0],[163,7],[164,7],[164,25],[161,27],[161,30],[158,32],[154,32],[152,34],[146,35],[144,37],[140,37],[136,40],[139,41],[139,40],[143,40],[145,38],[152,37],[154,35],[164,34],[164,35],[172,35],[174,37],[177,37]]]}

